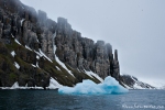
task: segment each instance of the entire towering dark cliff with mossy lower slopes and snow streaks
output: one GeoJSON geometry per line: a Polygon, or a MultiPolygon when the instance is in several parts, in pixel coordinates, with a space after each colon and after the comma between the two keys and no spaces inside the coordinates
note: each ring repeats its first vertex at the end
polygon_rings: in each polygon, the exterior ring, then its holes
{"type": "Polygon", "coordinates": [[[86,70],[120,81],[118,51],[113,55],[109,43],[82,37],[66,19],[55,22],[19,0],[0,0],[0,86],[46,87],[51,77],[67,86],[87,78],[99,82],[86,70]]]}

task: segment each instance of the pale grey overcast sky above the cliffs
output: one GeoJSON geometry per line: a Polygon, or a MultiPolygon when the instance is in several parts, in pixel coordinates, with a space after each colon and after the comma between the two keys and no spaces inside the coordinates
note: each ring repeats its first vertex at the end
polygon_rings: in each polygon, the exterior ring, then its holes
{"type": "Polygon", "coordinates": [[[165,0],[21,0],[119,52],[121,74],[165,82],[165,0]]]}

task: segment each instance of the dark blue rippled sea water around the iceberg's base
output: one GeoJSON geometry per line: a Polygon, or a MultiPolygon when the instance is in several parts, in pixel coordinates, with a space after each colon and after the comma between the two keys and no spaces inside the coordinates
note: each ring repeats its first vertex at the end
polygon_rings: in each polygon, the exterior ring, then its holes
{"type": "Polygon", "coordinates": [[[0,90],[0,110],[165,110],[165,90],[129,90],[122,95],[0,90]]]}

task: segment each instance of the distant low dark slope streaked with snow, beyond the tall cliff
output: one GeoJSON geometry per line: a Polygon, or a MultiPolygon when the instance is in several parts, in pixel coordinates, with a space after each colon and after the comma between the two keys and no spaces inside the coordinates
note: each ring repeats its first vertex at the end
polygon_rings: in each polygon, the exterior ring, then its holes
{"type": "Polygon", "coordinates": [[[121,75],[122,82],[128,89],[156,89],[146,82],[140,81],[131,75],[121,75]]]}

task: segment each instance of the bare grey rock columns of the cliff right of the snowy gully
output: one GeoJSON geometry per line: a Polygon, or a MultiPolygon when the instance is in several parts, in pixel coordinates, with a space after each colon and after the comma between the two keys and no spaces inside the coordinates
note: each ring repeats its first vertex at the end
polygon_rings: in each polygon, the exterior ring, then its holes
{"type": "Polygon", "coordinates": [[[66,19],[58,18],[55,44],[56,54],[61,61],[80,70],[92,70],[105,78],[111,75],[119,79],[118,52],[112,54],[112,46],[103,41],[94,43],[92,40],[81,37],[74,31],[66,19]]]}

